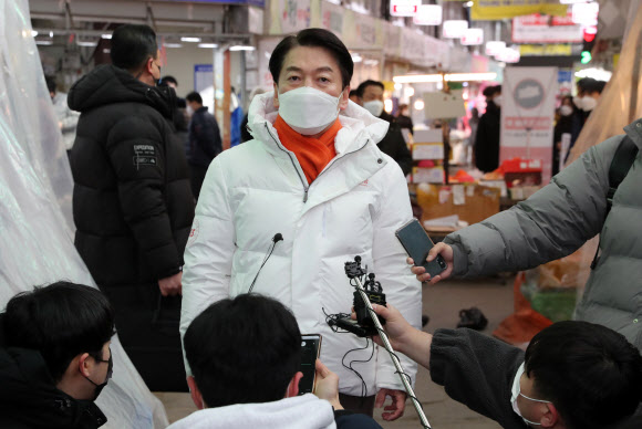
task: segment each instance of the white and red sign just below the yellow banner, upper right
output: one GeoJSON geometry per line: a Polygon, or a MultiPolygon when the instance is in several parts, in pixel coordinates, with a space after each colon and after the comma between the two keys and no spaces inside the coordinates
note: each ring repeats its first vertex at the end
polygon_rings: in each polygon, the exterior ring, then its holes
{"type": "Polygon", "coordinates": [[[514,43],[580,43],[582,28],[567,17],[542,17],[539,14],[512,19],[514,43]]]}

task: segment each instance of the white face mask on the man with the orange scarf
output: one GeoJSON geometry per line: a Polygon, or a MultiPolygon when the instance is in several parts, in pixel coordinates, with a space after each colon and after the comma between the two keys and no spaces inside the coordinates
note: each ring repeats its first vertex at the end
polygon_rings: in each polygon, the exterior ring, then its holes
{"type": "Polygon", "coordinates": [[[333,97],[310,86],[279,94],[279,116],[293,130],[304,136],[321,133],[339,116],[341,97],[333,97]]]}

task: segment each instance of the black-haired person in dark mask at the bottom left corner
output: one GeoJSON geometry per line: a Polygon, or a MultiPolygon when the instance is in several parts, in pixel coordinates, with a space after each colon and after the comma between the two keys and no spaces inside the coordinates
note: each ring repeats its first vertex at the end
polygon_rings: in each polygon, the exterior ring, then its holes
{"type": "Polygon", "coordinates": [[[93,429],[112,376],[114,314],[94,287],[58,282],[0,313],[0,428],[93,429]]]}

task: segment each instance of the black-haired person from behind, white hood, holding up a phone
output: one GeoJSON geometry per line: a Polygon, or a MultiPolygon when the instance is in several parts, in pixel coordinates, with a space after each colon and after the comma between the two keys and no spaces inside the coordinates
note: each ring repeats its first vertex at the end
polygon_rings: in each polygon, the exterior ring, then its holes
{"type": "Polygon", "coordinates": [[[184,338],[199,409],[169,429],[381,429],[343,410],[339,377],[317,360],[314,395],[299,396],[301,333],[280,302],[242,294],[211,304],[184,338]]]}

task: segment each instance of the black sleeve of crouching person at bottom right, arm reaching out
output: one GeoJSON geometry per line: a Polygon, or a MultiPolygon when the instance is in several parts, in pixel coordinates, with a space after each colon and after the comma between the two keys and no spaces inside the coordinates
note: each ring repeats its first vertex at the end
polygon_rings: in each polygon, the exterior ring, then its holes
{"type": "Polygon", "coordinates": [[[510,389],[524,352],[472,329],[437,329],[431,345],[431,377],[446,394],[503,428],[524,429],[510,389]]]}

